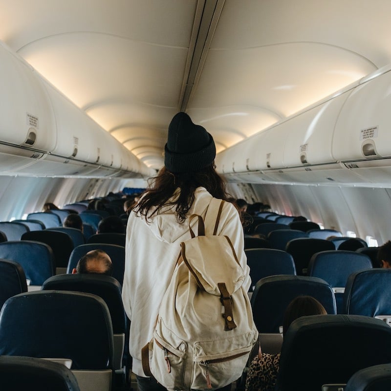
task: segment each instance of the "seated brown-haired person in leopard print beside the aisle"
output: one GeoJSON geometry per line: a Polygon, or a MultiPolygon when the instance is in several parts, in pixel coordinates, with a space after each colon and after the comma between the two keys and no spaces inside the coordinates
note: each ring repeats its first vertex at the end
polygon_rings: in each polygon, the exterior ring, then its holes
{"type": "MultiPolygon", "coordinates": [[[[326,309],[310,296],[298,296],[286,307],[282,324],[282,335],[285,335],[290,324],[301,316],[326,315],[326,309]]],[[[246,376],[246,391],[272,391],[275,389],[277,374],[280,368],[280,355],[262,353],[254,357],[246,376]]]]}

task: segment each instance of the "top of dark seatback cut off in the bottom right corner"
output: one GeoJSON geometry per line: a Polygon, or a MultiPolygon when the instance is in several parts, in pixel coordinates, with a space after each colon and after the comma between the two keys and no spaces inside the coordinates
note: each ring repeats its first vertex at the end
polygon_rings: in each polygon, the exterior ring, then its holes
{"type": "Polygon", "coordinates": [[[391,364],[374,365],[357,371],[348,381],[345,391],[390,391],[391,364]]]}

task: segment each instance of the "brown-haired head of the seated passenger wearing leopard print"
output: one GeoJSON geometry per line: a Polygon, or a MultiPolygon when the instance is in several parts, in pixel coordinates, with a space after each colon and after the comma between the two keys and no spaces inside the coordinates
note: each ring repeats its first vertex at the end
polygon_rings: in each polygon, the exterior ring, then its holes
{"type": "Polygon", "coordinates": [[[301,316],[326,315],[325,307],[311,296],[298,296],[286,307],[282,324],[282,334],[285,335],[290,324],[301,316]]]}

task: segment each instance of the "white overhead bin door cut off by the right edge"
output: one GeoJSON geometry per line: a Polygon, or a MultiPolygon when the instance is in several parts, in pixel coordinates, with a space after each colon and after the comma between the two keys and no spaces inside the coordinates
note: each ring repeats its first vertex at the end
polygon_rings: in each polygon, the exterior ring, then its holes
{"type": "Polygon", "coordinates": [[[390,107],[391,72],[356,87],[336,124],[333,156],[342,161],[391,156],[390,107]]]}

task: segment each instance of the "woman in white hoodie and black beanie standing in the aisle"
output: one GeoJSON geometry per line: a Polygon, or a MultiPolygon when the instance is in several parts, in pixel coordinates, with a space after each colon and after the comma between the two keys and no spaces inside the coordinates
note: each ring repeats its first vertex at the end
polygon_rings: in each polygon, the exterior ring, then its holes
{"type": "MultiPolygon", "coordinates": [[[[141,349],[152,339],[180,242],[190,239],[188,217],[205,217],[212,197],[228,199],[224,181],[215,171],[215,156],[212,136],[193,124],[187,114],[177,113],[168,129],[165,167],[130,212],[122,298],[130,319],[130,355],[139,391],[165,390],[154,379],[145,377],[141,349]]],[[[206,226],[206,230],[211,229],[206,226]]],[[[239,213],[231,203],[226,202],[222,208],[218,233],[231,239],[245,271],[243,287],[247,291],[251,280],[243,250],[243,230],[239,213]]]]}

